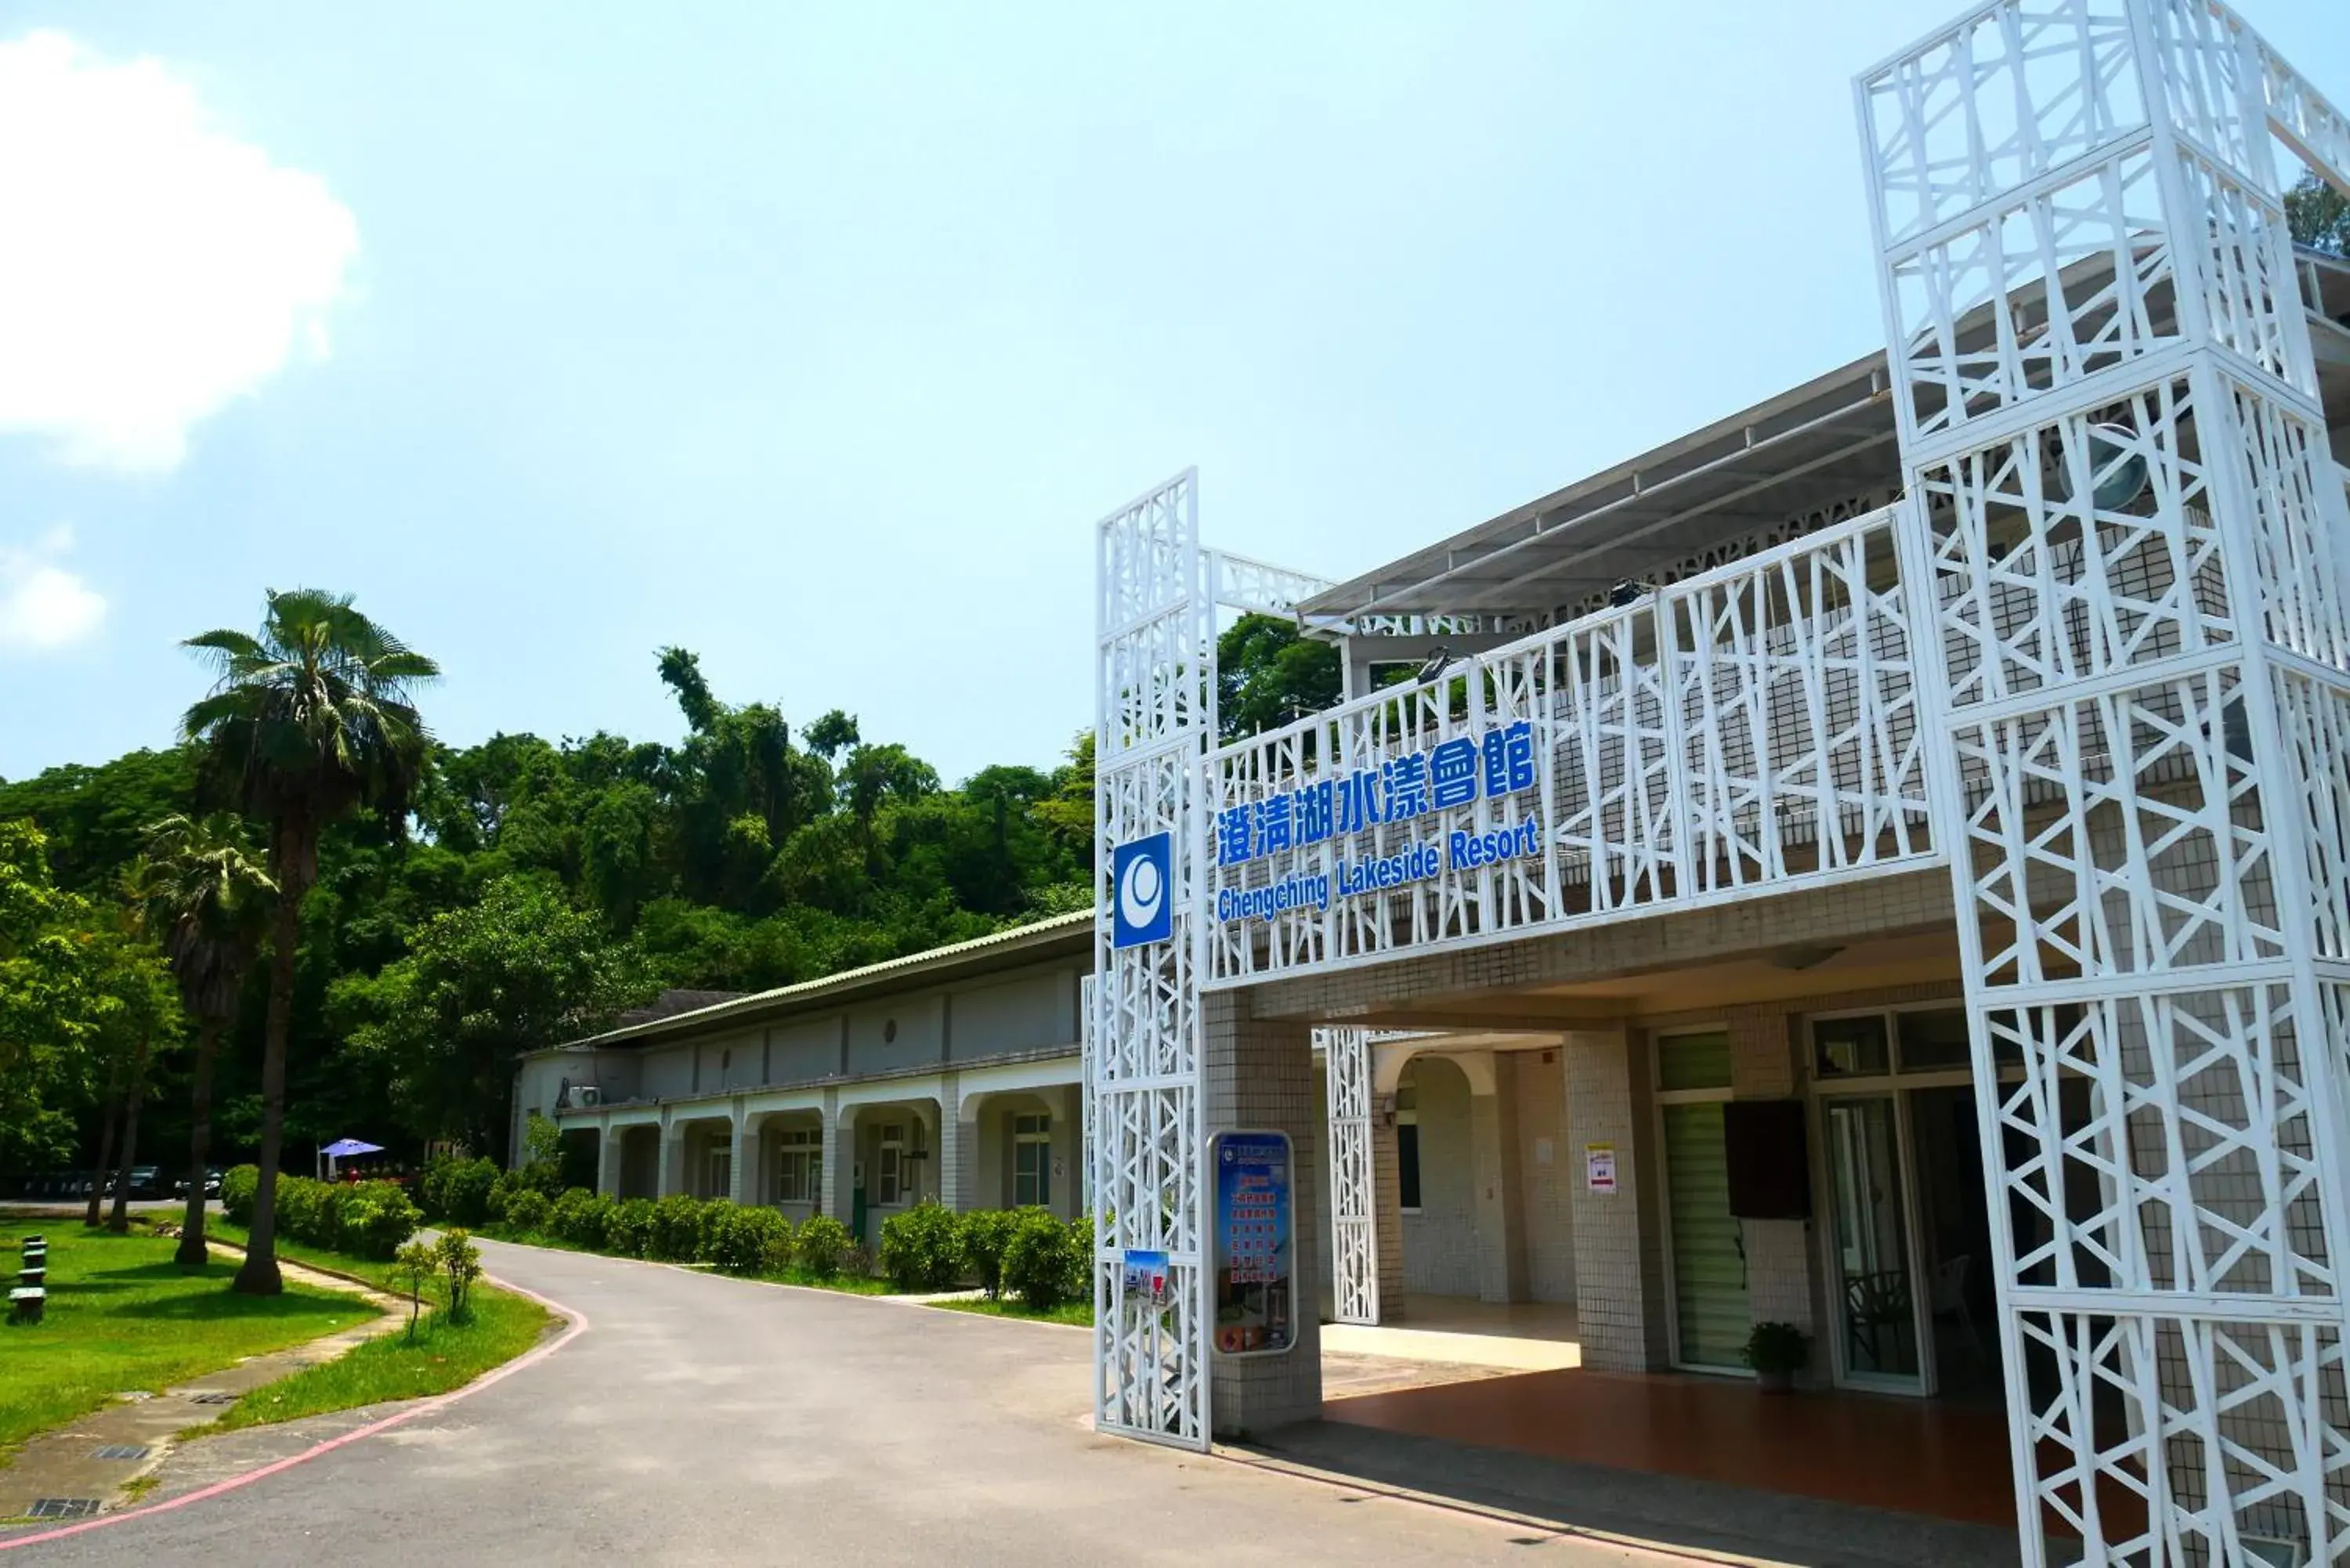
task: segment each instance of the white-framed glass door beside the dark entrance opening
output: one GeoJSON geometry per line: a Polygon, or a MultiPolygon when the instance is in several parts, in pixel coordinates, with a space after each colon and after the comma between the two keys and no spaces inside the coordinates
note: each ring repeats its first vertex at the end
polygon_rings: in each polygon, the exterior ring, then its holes
{"type": "Polygon", "coordinates": [[[1821,1100],[1833,1204],[1838,1366],[1849,1382],[1922,1387],[1908,1164],[1894,1095],[1821,1100]]]}

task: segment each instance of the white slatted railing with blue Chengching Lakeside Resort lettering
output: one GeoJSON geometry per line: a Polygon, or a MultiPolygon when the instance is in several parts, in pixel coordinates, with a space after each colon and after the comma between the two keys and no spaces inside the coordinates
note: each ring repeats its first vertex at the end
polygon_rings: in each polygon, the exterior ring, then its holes
{"type": "Polygon", "coordinates": [[[1210,983],[1932,860],[1901,515],[1210,752],[1210,983]]]}

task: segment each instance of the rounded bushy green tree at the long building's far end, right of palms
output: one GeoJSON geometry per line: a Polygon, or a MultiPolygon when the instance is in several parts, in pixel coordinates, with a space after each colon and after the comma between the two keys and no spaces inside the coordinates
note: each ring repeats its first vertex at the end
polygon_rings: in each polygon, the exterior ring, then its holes
{"type": "Polygon", "coordinates": [[[658,990],[634,943],[538,877],[501,877],[437,914],[404,959],[336,983],[350,1044],[385,1065],[421,1138],[505,1154],[515,1058],[592,1034],[658,990]]]}

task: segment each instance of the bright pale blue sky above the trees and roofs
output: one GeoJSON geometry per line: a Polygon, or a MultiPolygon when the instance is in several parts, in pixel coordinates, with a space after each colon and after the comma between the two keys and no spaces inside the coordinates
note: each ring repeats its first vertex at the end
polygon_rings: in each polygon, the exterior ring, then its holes
{"type": "MultiPolygon", "coordinates": [[[[458,743],[674,736],[674,642],[1048,764],[1168,473],[1351,576],[1875,348],[1849,78],[1953,9],[12,5],[70,54],[0,202],[127,237],[0,209],[63,367],[0,369],[0,776],[167,741],[291,585],[458,743]]],[[[2350,94],[2350,7],[2244,9],[2350,94]]]]}

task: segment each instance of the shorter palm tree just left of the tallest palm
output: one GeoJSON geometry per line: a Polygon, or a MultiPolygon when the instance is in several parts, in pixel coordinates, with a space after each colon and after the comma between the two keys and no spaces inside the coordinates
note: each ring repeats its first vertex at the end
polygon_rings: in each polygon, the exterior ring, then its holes
{"type": "Polygon", "coordinates": [[[195,1084],[188,1091],[188,1218],[174,1260],[204,1267],[204,1168],[212,1161],[212,1063],[237,1016],[237,987],[270,922],[277,884],[261,867],[244,823],[221,811],[148,825],[157,867],[153,919],[179,994],[195,1018],[195,1084]]]}

